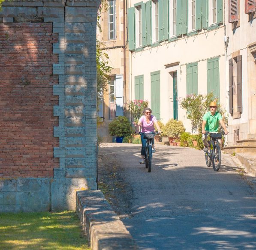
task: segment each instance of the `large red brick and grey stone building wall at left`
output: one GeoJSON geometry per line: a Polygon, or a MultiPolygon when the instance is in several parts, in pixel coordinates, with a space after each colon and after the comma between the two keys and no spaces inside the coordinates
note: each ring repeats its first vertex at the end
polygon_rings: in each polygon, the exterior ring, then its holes
{"type": "Polygon", "coordinates": [[[0,12],[0,212],[75,208],[96,189],[97,0],[0,12]]]}

